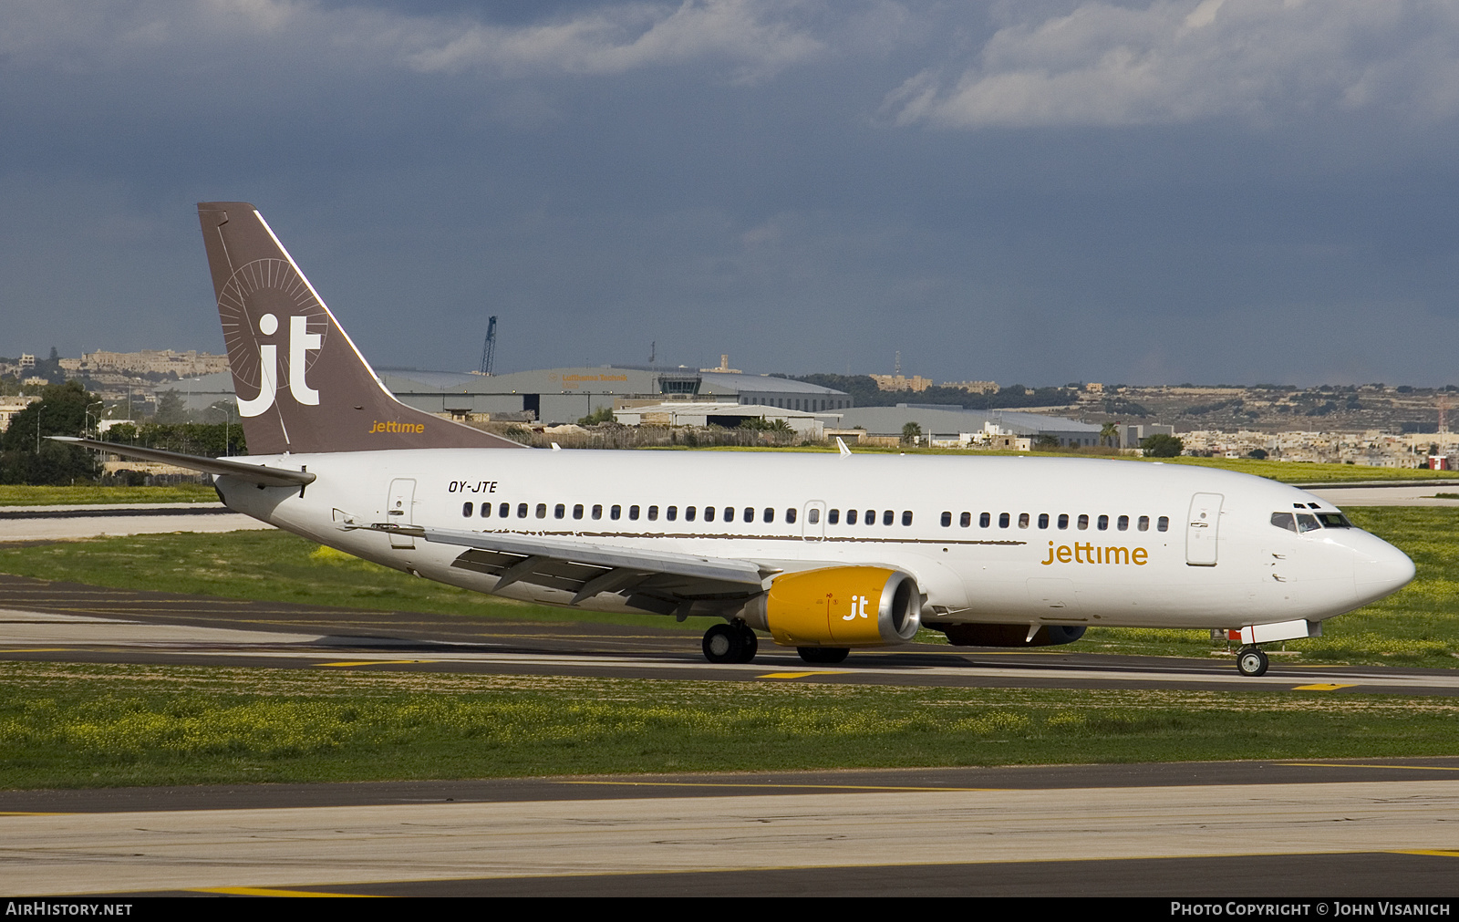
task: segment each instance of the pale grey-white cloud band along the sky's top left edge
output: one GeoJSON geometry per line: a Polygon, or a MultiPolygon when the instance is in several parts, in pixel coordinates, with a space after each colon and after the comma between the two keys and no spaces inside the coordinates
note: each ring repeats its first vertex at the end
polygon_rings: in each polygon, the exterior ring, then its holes
{"type": "Polygon", "coordinates": [[[817,0],[605,1],[528,25],[314,0],[10,0],[0,64],[107,71],[233,61],[261,51],[301,67],[617,74],[705,63],[753,82],[821,48],[817,0]],[[160,57],[160,61],[158,60],[160,57]]]}

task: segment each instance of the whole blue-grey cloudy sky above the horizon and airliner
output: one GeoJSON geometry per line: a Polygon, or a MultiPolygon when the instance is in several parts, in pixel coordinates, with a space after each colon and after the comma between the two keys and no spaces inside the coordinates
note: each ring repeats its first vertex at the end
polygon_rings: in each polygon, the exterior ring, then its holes
{"type": "Polygon", "coordinates": [[[0,355],[1459,384],[1459,4],[6,0],[0,355]]]}

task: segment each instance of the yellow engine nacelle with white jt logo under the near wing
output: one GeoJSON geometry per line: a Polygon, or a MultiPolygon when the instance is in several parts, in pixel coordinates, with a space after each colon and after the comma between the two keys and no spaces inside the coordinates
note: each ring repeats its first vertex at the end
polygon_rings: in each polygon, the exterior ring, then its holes
{"type": "Polygon", "coordinates": [[[833,566],[776,576],[741,614],[781,646],[887,646],[916,635],[922,594],[902,570],[833,566]]]}

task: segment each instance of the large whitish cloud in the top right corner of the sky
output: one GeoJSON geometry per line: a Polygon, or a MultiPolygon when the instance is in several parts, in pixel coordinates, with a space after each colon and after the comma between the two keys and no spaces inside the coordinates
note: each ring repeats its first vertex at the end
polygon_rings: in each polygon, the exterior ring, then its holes
{"type": "Polygon", "coordinates": [[[998,29],[961,73],[889,93],[897,124],[1135,125],[1392,109],[1459,114],[1459,6],[1444,0],[1080,3],[998,29]]]}

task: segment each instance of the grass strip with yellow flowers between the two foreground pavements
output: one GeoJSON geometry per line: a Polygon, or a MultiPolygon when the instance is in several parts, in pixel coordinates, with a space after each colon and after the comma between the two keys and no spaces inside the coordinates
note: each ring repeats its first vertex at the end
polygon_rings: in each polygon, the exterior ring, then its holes
{"type": "Polygon", "coordinates": [[[1441,697],[0,662],[0,788],[1455,751],[1441,697]]]}

